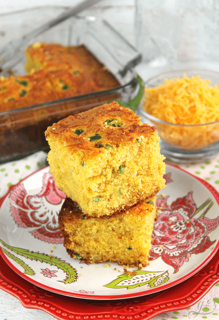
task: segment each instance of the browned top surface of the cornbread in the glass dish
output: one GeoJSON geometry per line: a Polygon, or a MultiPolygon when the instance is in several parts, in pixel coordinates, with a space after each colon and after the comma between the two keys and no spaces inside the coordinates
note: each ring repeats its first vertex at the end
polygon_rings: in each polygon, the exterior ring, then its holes
{"type": "MultiPolygon", "coordinates": [[[[36,43],[26,49],[24,76],[0,78],[1,111],[7,111],[120,86],[84,46],[36,43]]],[[[106,101],[107,97],[100,97],[106,101]]],[[[96,102],[95,97],[91,103],[96,102]]],[[[78,104],[75,103],[75,107],[78,104]]],[[[66,104],[65,108],[72,108],[66,104]]]]}

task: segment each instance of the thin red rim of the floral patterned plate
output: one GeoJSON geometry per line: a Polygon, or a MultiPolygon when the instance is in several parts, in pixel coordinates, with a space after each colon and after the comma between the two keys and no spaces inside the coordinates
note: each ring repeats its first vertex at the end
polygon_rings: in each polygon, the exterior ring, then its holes
{"type": "MultiPolygon", "coordinates": [[[[190,176],[192,176],[195,180],[198,180],[202,185],[204,185],[205,188],[207,188],[210,193],[214,196],[215,201],[217,202],[218,206],[219,206],[219,193],[217,192],[217,190],[210,185],[207,181],[194,176],[192,173],[185,171],[184,169],[180,168],[179,166],[175,165],[175,164],[166,164],[167,166],[170,167],[174,167],[177,170],[180,170],[182,172],[184,172],[185,174],[188,174],[190,176]]],[[[8,194],[13,190],[13,188],[15,188],[17,185],[19,185],[20,183],[22,183],[22,181],[28,179],[30,176],[33,176],[34,174],[36,174],[39,171],[42,170],[48,170],[49,166],[46,166],[44,168],[41,168],[33,173],[31,173],[30,175],[28,175],[27,177],[25,177],[24,179],[22,179],[21,181],[19,181],[17,184],[12,185],[9,187],[8,192],[0,199],[0,208],[2,206],[2,204],[4,203],[5,198],[8,196],[8,194]]],[[[167,171],[167,170],[166,170],[167,171]]],[[[189,273],[187,273],[185,276],[181,276],[179,279],[176,279],[170,283],[164,284],[162,285],[162,287],[157,287],[157,288],[152,288],[150,290],[143,290],[143,291],[139,291],[139,292],[130,292],[130,293],[121,293],[121,294],[109,294],[109,295],[90,295],[90,294],[82,294],[82,293],[78,293],[78,292],[69,292],[69,291],[65,291],[65,290],[61,290],[61,289],[56,289],[54,287],[51,287],[49,285],[46,284],[41,284],[38,281],[31,279],[30,277],[26,276],[24,273],[22,273],[15,265],[13,265],[11,263],[11,261],[6,257],[6,255],[4,254],[4,252],[1,249],[1,245],[0,245],[0,255],[3,258],[3,260],[9,265],[9,267],[15,272],[17,273],[20,277],[24,278],[26,281],[44,289],[44,290],[48,290],[49,292],[55,292],[57,294],[61,294],[64,296],[69,296],[69,297],[74,297],[74,298],[80,298],[80,299],[89,299],[89,300],[122,300],[122,299],[130,299],[130,298],[138,298],[144,295],[150,295],[156,292],[161,292],[163,290],[166,290],[168,288],[174,287],[177,284],[180,284],[181,282],[184,282],[185,280],[187,280],[188,278],[191,278],[195,273],[197,273],[198,271],[200,271],[206,264],[208,264],[208,262],[214,257],[215,253],[217,252],[219,247],[219,238],[217,240],[217,243],[215,244],[214,249],[210,252],[210,254],[208,255],[208,257],[202,261],[202,263],[200,263],[200,265],[196,268],[194,268],[192,271],[190,271],[189,273]]]]}

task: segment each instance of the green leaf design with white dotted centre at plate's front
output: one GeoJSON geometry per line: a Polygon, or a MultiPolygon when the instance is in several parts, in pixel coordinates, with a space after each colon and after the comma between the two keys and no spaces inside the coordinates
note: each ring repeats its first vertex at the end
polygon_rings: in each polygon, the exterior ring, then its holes
{"type": "Polygon", "coordinates": [[[133,270],[136,274],[128,276],[124,273],[117,276],[117,279],[113,280],[109,284],[105,284],[104,287],[113,289],[133,289],[136,287],[141,287],[142,285],[147,285],[150,288],[155,288],[169,280],[168,270],[166,271],[144,271],[144,270],[133,270]]]}

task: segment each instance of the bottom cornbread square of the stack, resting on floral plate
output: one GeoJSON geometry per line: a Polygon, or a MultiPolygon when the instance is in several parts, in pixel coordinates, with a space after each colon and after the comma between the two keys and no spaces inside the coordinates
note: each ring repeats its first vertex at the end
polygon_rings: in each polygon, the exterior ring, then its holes
{"type": "Polygon", "coordinates": [[[58,221],[72,258],[141,268],[148,264],[156,211],[154,196],[111,216],[90,217],[66,197],[58,221]]]}

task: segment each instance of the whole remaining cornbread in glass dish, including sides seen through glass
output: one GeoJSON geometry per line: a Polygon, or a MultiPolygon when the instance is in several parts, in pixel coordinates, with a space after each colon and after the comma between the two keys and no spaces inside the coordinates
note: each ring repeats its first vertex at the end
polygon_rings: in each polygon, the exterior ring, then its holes
{"type": "Polygon", "coordinates": [[[36,43],[26,55],[29,74],[0,78],[0,113],[4,112],[0,159],[4,161],[9,155],[48,150],[44,132],[49,125],[121,97],[117,79],[84,46],[36,43]],[[67,101],[58,101],[63,98],[67,101]],[[33,108],[37,104],[42,105],[33,108]]]}

